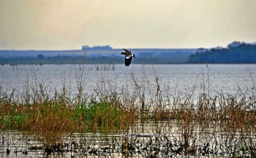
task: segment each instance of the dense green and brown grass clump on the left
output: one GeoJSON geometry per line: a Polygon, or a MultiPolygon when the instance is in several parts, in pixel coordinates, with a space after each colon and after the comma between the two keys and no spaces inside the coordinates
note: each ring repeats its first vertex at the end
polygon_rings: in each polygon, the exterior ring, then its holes
{"type": "Polygon", "coordinates": [[[69,106],[63,101],[45,100],[31,104],[0,103],[0,127],[31,132],[96,131],[120,129],[127,112],[109,101],[89,102],[69,106]]]}

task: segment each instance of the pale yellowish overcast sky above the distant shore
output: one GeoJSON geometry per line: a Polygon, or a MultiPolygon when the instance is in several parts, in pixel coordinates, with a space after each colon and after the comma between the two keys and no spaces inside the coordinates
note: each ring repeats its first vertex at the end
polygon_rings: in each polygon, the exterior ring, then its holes
{"type": "Polygon", "coordinates": [[[0,49],[211,48],[256,41],[256,0],[0,0],[0,49]]]}

